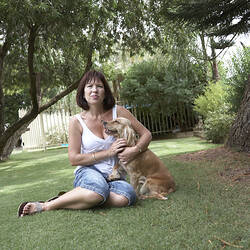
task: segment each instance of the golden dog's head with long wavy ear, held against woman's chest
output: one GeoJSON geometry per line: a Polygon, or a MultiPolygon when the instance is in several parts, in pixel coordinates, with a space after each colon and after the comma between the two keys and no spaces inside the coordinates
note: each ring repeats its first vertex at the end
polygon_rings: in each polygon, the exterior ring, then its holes
{"type": "Polygon", "coordinates": [[[136,134],[132,128],[130,120],[119,117],[113,121],[103,121],[105,133],[114,136],[115,138],[125,138],[128,146],[134,146],[136,142],[136,134]]]}

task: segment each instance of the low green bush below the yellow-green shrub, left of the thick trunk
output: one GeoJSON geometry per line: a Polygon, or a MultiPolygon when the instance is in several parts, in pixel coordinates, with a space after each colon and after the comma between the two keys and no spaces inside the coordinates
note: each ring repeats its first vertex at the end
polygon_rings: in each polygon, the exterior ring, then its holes
{"type": "Polygon", "coordinates": [[[234,121],[234,115],[223,112],[209,112],[204,121],[205,137],[213,143],[224,143],[234,121]]]}

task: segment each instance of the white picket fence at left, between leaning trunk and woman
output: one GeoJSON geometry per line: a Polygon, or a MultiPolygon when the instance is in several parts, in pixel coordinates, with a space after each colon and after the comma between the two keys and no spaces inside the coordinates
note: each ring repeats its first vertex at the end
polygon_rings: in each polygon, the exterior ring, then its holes
{"type": "MultiPolygon", "coordinates": [[[[19,110],[19,117],[25,115],[25,110],[19,110]]],[[[70,115],[68,112],[39,114],[34,121],[30,123],[28,129],[22,134],[23,149],[46,148],[48,145],[60,145],[59,138],[67,135],[70,115]],[[52,140],[50,138],[53,138],[52,140]]],[[[65,138],[66,139],[66,138],[65,138]]]]}

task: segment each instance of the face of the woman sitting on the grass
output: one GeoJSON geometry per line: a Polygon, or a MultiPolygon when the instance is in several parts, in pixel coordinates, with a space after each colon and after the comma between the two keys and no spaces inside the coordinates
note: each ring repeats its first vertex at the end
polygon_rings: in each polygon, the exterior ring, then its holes
{"type": "Polygon", "coordinates": [[[102,104],[105,98],[105,89],[102,81],[93,79],[84,87],[84,97],[89,105],[102,104]]]}

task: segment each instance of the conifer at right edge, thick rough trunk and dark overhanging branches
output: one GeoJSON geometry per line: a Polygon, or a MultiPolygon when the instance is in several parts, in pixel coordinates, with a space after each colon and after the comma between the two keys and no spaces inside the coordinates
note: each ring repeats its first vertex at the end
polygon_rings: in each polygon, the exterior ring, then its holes
{"type": "MultiPolygon", "coordinates": [[[[221,44],[229,43],[225,37],[249,31],[250,3],[247,0],[195,0],[189,3],[178,1],[175,8],[165,6],[165,15],[178,18],[193,24],[200,31],[208,31],[208,35],[217,36],[221,44]]],[[[249,139],[249,78],[238,110],[235,122],[229,133],[227,146],[237,147],[242,151],[250,151],[249,139]]]]}

